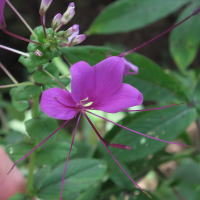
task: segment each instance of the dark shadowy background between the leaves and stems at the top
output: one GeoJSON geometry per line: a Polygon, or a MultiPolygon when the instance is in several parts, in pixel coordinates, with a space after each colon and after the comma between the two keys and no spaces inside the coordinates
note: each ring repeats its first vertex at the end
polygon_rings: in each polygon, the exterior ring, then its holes
{"type": "MultiPolygon", "coordinates": [[[[88,30],[92,21],[98,16],[98,14],[107,5],[114,1],[115,0],[75,0],[74,2],[76,6],[76,14],[67,25],[62,27],[63,30],[68,29],[73,24],[79,24],[80,33],[84,33],[86,30],[88,30]]],[[[70,0],[54,0],[52,2],[46,14],[46,27],[51,26],[51,21],[57,13],[60,12],[63,14],[66,11],[70,2],[70,0]]],[[[21,15],[32,28],[40,25],[39,7],[41,0],[11,0],[11,3],[21,13],[21,15]]],[[[156,23],[150,24],[141,30],[122,34],[88,36],[81,45],[115,45],[114,47],[116,48],[125,50],[132,49],[171,27],[174,24],[180,11],[181,10],[156,23]]],[[[7,24],[7,30],[25,38],[30,37],[29,30],[7,4],[5,5],[4,17],[7,24]]],[[[160,64],[163,68],[177,69],[169,54],[168,37],[169,34],[163,36],[157,41],[138,50],[138,53],[147,56],[156,63],[160,64]]],[[[26,48],[28,45],[27,42],[6,35],[3,31],[0,31],[0,44],[24,52],[27,51],[26,48]]],[[[19,82],[21,82],[27,80],[27,70],[22,64],[18,62],[18,58],[18,54],[0,49],[0,62],[3,63],[3,65],[14,75],[14,77],[19,82]]],[[[200,59],[196,59],[191,67],[196,68],[199,65],[200,59]]],[[[0,69],[0,84],[2,85],[8,83],[12,82],[0,69]]]]}

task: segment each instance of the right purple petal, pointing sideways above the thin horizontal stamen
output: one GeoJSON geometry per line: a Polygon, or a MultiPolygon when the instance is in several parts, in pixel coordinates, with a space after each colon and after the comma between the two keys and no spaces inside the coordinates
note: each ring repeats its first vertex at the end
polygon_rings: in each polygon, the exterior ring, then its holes
{"type": "Polygon", "coordinates": [[[91,105],[91,107],[95,110],[116,113],[123,109],[140,105],[142,102],[142,94],[131,85],[123,83],[114,94],[102,99],[96,105],[91,105]]]}

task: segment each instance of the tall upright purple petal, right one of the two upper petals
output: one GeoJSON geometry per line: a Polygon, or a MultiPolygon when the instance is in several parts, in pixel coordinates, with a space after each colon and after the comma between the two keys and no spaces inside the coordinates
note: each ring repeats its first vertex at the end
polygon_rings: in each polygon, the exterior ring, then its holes
{"type": "Polygon", "coordinates": [[[94,67],[96,88],[89,96],[89,100],[96,103],[111,96],[122,85],[124,62],[113,56],[107,58],[94,67]]]}

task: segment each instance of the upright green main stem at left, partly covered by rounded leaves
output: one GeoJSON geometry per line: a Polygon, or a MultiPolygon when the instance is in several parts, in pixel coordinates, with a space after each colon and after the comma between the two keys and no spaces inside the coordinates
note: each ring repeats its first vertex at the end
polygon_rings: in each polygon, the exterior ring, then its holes
{"type": "MultiPolygon", "coordinates": [[[[33,99],[32,104],[32,117],[37,118],[39,115],[38,112],[38,105],[39,105],[39,97],[33,99]]],[[[33,147],[36,147],[37,143],[33,140],[33,147]]],[[[28,180],[27,180],[27,193],[29,196],[33,196],[33,174],[35,168],[35,151],[30,154],[30,162],[29,162],[29,172],[28,172],[28,180]]]]}

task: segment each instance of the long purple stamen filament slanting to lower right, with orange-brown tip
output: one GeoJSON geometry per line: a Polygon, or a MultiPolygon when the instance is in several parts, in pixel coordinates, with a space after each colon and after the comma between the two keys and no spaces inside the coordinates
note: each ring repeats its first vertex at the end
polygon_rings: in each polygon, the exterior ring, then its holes
{"type": "MultiPolygon", "coordinates": [[[[86,114],[84,114],[85,116],[87,116],[86,114]]],[[[96,132],[96,134],[98,135],[99,133],[98,133],[98,131],[97,131],[97,129],[95,128],[95,126],[93,125],[93,123],[91,122],[91,120],[88,118],[88,117],[86,117],[87,118],[87,120],[88,120],[88,122],[89,122],[89,124],[92,126],[92,128],[93,128],[93,130],[96,132]]],[[[115,160],[115,162],[119,165],[119,167],[122,169],[122,171],[129,177],[129,179],[140,189],[140,190],[142,190],[148,197],[150,197],[151,198],[151,196],[147,193],[147,192],[145,192],[130,176],[129,176],[129,174],[125,171],[125,169],[119,164],[119,162],[117,161],[117,159],[113,156],[113,154],[110,152],[110,150],[109,150],[109,148],[106,146],[106,144],[103,142],[103,140],[101,140],[101,142],[102,142],[102,144],[105,146],[105,148],[107,149],[107,151],[109,152],[109,154],[112,156],[112,158],[115,160]]]]}

